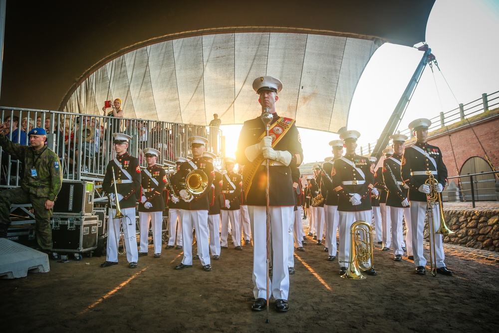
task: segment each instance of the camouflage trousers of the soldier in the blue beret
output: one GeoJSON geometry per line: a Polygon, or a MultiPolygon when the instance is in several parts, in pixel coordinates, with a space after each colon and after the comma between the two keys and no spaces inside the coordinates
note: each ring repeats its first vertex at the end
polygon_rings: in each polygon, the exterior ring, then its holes
{"type": "Polygon", "coordinates": [[[45,209],[48,198],[38,198],[24,192],[20,187],[0,192],[0,238],[7,237],[10,225],[10,205],[31,204],[36,221],[36,241],[41,250],[52,250],[52,210],[45,209]]]}

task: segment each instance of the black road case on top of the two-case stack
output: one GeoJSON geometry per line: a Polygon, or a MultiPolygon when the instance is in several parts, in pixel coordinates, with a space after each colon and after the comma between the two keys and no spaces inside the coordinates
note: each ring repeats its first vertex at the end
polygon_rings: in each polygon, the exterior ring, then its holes
{"type": "Polygon", "coordinates": [[[54,202],[54,214],[92,215],[94,187],[93,182],[85,180],[63,180],[54,202]]]}

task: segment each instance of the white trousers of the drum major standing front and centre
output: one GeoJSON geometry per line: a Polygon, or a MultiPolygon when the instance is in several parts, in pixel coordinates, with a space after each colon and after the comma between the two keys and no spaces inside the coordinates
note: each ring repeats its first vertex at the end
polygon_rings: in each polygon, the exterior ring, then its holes
{"type": "MultiPolygon", "coordinates": [[[[253,237],[253,295],[267,297],[267,231],[265,206],[248,206],[251,235],[253,237]]],[[[287,300],[289,295],[288,241],[289,221],[293,218],[293,206],[270,206],[270,238],[272,242],[272,279],[268,281],[269,295],[274,299],[287,300]]]]}

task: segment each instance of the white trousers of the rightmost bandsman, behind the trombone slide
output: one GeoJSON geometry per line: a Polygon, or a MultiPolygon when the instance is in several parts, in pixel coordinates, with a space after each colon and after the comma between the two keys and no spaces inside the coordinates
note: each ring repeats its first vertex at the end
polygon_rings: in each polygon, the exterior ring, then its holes
{"type": "MultiPolygon", "coordinates": [[[[426,266],[426,259],[423,256],[423,230],[425,227],[426,207],[424,201],[411,201],[411,226],[412,226],[412,250],[414,252],[414,266],[426,266]]],[[[433,209],[433,225],[437,231],[440,227],[440,205],[435,205],[433,209]]],[[[433,237],[430,237],[430,246],[433,249],[433,237]]],[[[433,250],[432,250],[433,251],[433,250]]],[[[444,247],[442,246],[442,235],[435,234],[435,255],[437,268],[445,267],[444,247]]]]}

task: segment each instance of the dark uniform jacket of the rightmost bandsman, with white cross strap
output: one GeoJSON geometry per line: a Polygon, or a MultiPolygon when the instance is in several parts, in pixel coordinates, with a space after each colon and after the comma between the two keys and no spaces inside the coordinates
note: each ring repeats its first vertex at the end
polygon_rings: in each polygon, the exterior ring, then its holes
{"type": "Polygon", "coordinates": [[[437,146],[416,142],[414,146],[405,149],[402,157],[402,179],[409,186],[410,201],[426,201],[426,194],[418,191],[419,187],[428,179],[428,175],[424,174],[426,171],[432,172],[435,179],[442,184],[442,187],[445,187],[447,168],[442,160],[442,151],[437,146]],[[427,155],[425,156],[419,150],[427,155]],[[417,175],[414,175],[414,172],[417,175]]]}

